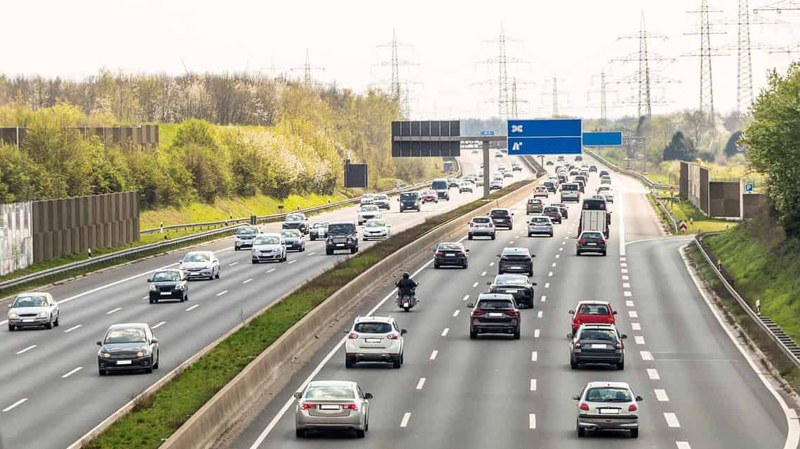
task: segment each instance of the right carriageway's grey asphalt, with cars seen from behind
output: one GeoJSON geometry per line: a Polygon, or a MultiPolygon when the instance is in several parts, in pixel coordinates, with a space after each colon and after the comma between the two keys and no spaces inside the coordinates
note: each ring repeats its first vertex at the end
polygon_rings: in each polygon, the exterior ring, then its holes
{"type": "MultiPolygon", "coordinates": [[[[795,447],[797,424],[790,431],[785,404],[726,335],[687,272],[678,248],[690,240],[662,236],[642,185],[612,177],[617,197],[608,256],[575,256],[579,205],[570,205],[570,219],[556,225],[554,237],[528,238],[520,204],[514,230],[499,231],[497,240],[469,241],[465,233],[468,269],[434,270],[432,261],[418,267],[422,303],[412,312],[398,311],[389,288],[376,296],[384,301],[354,311],[392,314],[408,330],[401,369],[346,369],[342,337],[335,336],[224,447],[795,447]],[[522,310],[521,340],[469,340],[466,304],[486,291],[497,273],[495,255],[506,246],[536,254],[538,304],[522,310]],[[609,300],[618,310],[618,328],[629,336],[624,371],[570,369],[567,312],[583,299],[609,300]],[[366,439],[296,438],[291,395],[306,379],[354,380],[372,392],[366,439]],[[578,439],[570,396],[592,380],[626,381],[645,398],[638,439],[627,432],[578,439]]],[[[590,187],[597,186],[593,174],[590,187]]]]}

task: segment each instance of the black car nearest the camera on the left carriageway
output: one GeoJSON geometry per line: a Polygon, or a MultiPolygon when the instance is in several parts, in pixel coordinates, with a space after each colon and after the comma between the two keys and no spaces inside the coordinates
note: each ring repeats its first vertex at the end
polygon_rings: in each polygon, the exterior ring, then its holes
{"type": "Polygon", "coordinates": [[[98,372],[158,369],[161,350],[153,330],[145,323],[112,324],[98,340],[98,372]]]}

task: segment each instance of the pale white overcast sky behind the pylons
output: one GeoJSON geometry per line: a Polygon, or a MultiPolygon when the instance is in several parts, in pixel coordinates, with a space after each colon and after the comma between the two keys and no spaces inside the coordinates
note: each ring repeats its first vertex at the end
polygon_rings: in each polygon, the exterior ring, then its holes
{"type": "MultiPolygon", "coordinates": [[[[750,0],[750,10],[776,0],[750,0]]],[[[795,3],[796,0],[795,0],[795,3]]],[[[724,22],[737,14],[738,0],[712,0],[712,21],[724,22]]],[[[410,85],[413,118],[490,117],[497,115],[497,89],[478,85],[496,83],[496,65],[479,62],[498,56],[501,27],[510,38],[508,58],[526,61],[509,65],[510,76],[520,81],[519,109],[524,117],[550,114],[551,79],[558,77],[559,109],[574,116],[598,117],[599,74],[605,68],[609,81],[629,77],[635,63],[610,63],[638,52],[637,40],[618,40],[638,33],[640,17],[646,28],[666,35],[650,41],[650,51],[676,62],[656,64],[653,77],[668,77],[680,84],[654,85],[654,113],[697,108],[699,60],[681,57],[698,51],[699,37],[687,36],[698,28],[700,0],[609,0],[606,2],[541,0],[490,2],[318,1],[270,0],[25,0],[6,2],[0,35],[6,74],[44,74],[84,77],[100,68],[128,72],[177,74],[184,64],[193,71],[288,71],[301,77],[306,49],[321,82],[364,91],[370,85],[388,84],[390,48],[378,47],[398,40],[410,44],[400,49],[400,59],[416,66],[400,67],[410,85]],[[80,6],[78,6],[80,5],[80,6]],[[514,39],[514,40],[511,40],[514,39]],[[494,42],[491,42],[494,40],[494,42]],[[596,76],[597,75],[597,76],[596,76]],[[522,83],[529,84],[522,84],[522,83]]],[[[752,26],[751,39],[772,46],[800,42],[800,12],[761,13],[759,18],[782,19],[786,24],[752,26]],[[793,28],[795,30],[793,30],[793,28]]],[[[755,18],[751,19],[755,20],[755,18]]],[[[733,45],[713,60],[714,105],[726,113],[735,108],[736,26],[719,26],[727,34],[711,36],[712,45],[733,45]]],[[[798,49],[800,50],[800,49],[798,49]]],[[[786,70],[800,53],[769,54],[753,51],[753,81],[762,87],[768,68],[786,70]]],[[[636,113],[629,99],[635,85],[608,84],[608,113],[618,117],[636,113]]]]}

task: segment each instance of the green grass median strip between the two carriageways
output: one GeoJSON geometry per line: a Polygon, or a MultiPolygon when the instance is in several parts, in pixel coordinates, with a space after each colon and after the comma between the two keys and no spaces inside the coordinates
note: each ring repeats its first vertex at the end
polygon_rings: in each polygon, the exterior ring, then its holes
{"type": "MultiPolygon", "coordinates": [[[[518,181],[492,193],[498,199],[533,182],[518,181]]],[[[266,309],[218,346],[186,368],[152,395],[137,400],[133,411],[86,443],[90,449],[155,449],[178,430],[226,383],[250,364],[278,337],[330,295],[398,249],[440,224],[486,205],[476,200],[447,213],[428,218],[403,232],[374,244],[356,256],[309,280],[290,296],[266,309]]]]}

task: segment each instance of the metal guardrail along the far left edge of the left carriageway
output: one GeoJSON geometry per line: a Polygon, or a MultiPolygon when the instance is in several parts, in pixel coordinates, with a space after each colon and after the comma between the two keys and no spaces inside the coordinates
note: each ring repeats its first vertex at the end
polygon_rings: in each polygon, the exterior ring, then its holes
{"type": "MultiPolygon", "coordinates": [[[[459,176],[461,174],[461,172],[462,172],[462,169],[461,169],[461,165],[458,164],[458,161],[456,161],[456,164],[458,165],[458,171],[455,173],[455,176],[459,176]]],[[[429,185],[429,184],[430,184],[430,181],[422,182],[422,183],[419,183],[419,184],[415,184],[415,185],[410,185],[408,187],[404,187],[402,189],[390,190],[390,191],[384,192],[384,193],[387,194],[387,195],[394,194],[394,193],[401,193],[401,192],[405,192],[407,190],[419,189],[419,188],[424,187],[424,186],[429,185]]],[[[322,206],[317,206],[317,207],[314,207],[314,208],[293,211],[292,213],[315,212],[315,211],[319,211],[319,210],[322,210],[322,209],[328,209],[328,208],[331,208],[331,207],[335,207],[335,206],[338,206],[338,205],[345,205],[345,204],[355,203],[355,202],[358,202],[358,201],[359,201],[359,198],[352,198],[350,200],[337,201],[336,203],[330,203],[328,205],[322,205],[322,206]]],[[[264,223],[264,222],[268,222],[270,220],[278,220],[278,219],[280,219],[282,217],[286,217],[286,215],[288,215],[288,214],[289,213],[265,215],[265,216],[262,216],[262,217],[256,217],[256,219],[257,219],[257,221],[264,223]]],[[[86,259],[86,260],[78,260],[77,262],[71,262],[70,264],[64,264],[64,265],[61,265],[61,266],[58,266],[58,267],[48,268],[46,270],[42,270],[42,271],[39,271],[39,272],[30,273],[30,274],[25,275],[25,276],[15,277],[14,279],[10,279],[10,280],[6,280],[6,281],[3,281],[3,282],[0,282],[0,296],[2,296],[2,293],[7,288],[16,287],[18,285],[27,284],[29,282],[33,282],[33,281],[37,281],[37,280],[53,279],[56,276],[61,276],[61,275],[65,274],[65,273],[68,273],[68,272],[73,272],[73,271],[76,271],[76,270],[89,268],[92,265],[110,264],[112,262],[117,262],[117,261],[122,261],[122,260],[134,260],[134,259],[138,259],[138,258],[143,257],[143,256],[149,256],[150,254],[153,254],[155,252],[161,252],[161,251],[163,251],[163,250],[165,250],[167,248],[170,248],[170,247],[186,244],[186,243],[193,242],[193,241],[198,241],[199,242],[199,241],[204,241],[204,240],[211,240],[211,239],[217,238],[218,236],[224,236],[225,234],[231,234],[231,233],[234,232],[235,228],[240,223],[242,223],[242,221],[250,222],[250,219],[249,218],[247,218],[247,219],[243,219],[242,218],[242,219],[235,219],[235,220],[229,220],[229,221],[216,221],[216,222],[210,222],[210,223],[176,224],[176,225],[174,225],[172,227],[165,226],[164,229],[167,229],[167,228],[181,228],[181,227],[182,228],[190,228],[190,227],[193,227],[193,226],[200,227],[201,225],[210,226],[210,225],[214,225],[214,224],[224,224],[222,228],[212,229],[212,230],[209,230],[209,231],[206,231],[206,232],[198,232],[196,234],[191,234],[189,236],[177,237],[177,238],[170,239],[170,240],[158,241],[158,242],[154,242],[154,243],[151,243],[151,244],[143,244],[142,246],[137,246],[137,247],[134,247],[134,248],[121,249],[119,251],[109,252],[108,254],[104,254],[102,256],[94,256],[94,257],[90,257],[89,259],[86,259]]],[[[147,231],[148,232],[156,232],[159,229],[160,228],[156,228],[155,230],[148,229],[147,231]]],[[[143,233],[146,233],[146,232],[143,232],[143,233]]]]}

